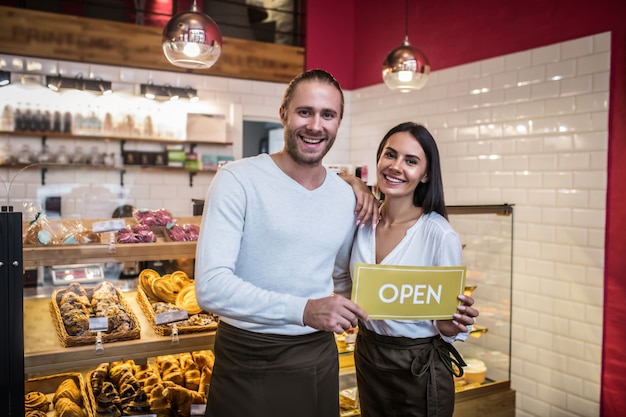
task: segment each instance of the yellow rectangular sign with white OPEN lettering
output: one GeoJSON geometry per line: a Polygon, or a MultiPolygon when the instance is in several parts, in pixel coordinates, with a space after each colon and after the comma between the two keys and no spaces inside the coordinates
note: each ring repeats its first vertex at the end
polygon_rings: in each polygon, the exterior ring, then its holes
{"type": "Polygon", "coordinates": [[[373,320],[449,320],[460,304],[466,269],[357,263],[352,301],[373,320]]]}

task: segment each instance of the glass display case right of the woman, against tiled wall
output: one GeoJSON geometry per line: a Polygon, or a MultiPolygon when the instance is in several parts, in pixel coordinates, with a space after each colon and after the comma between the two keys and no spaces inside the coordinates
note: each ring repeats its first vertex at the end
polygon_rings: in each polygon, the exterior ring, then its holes
{"type": "Polygon", "coordinates": [[[456,347],[465,359],[485,364],[485,383],[509,380],[513,206],[454,206],[448,210],[463,245],[466,293],[480,312],[470,338],[456,347]]]}

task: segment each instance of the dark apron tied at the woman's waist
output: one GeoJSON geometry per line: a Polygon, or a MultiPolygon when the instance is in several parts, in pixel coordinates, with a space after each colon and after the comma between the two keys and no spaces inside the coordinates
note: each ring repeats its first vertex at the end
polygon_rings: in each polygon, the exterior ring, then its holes
{"type": "Polygon", "coordinates": [[[361,326],[354,360],[362,417],[452,416],[452,375],[461,376],[465,362],[441,337],[382,336],[361,326]]]}

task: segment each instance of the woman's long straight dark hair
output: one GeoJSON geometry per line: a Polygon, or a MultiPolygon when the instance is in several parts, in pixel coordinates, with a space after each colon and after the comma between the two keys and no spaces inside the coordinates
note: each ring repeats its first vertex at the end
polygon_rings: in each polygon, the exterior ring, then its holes
{"type": "Polygon", "coordinates": [[[426,173],[428,174],[428,181],[420,182],[417,188],[415,188],[413,192],[413,205],[421,207],[422,210],[424,210],[424,214],[436,211],[447,219],[448,211],[446,210],[446,203],[443,197],[443,180],[441,177],[439,150],[437,149],[435,139],[428,129],[413,122],[400,123],[391,128],[380,142],[380,145],[378,145],[376,163],[380,160],[389,137],[398,132],[407,132],[413,136],[422,149],[424,149],[424,154],[426,155],[426,173]]]}

